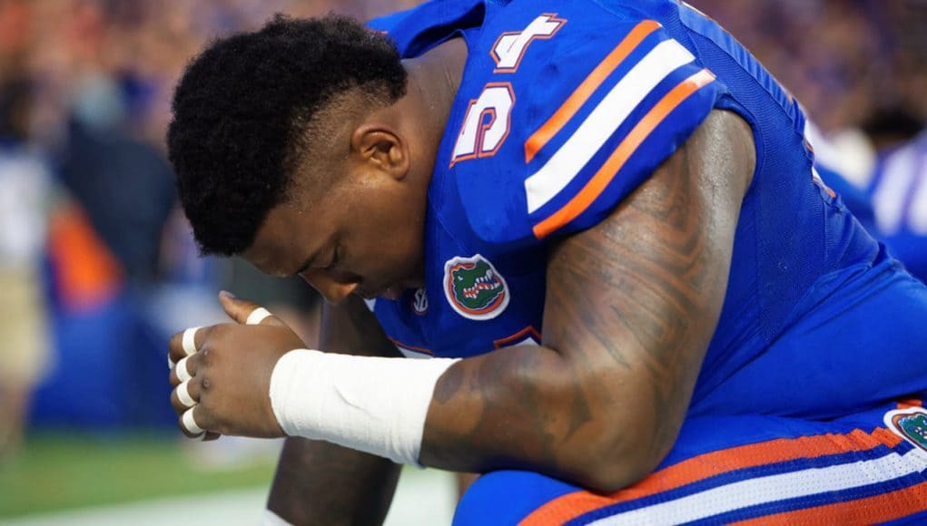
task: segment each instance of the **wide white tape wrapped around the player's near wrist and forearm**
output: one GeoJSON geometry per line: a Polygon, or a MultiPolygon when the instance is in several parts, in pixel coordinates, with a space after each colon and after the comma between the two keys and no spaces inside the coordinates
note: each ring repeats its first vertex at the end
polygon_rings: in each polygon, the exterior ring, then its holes
{"type": "Polygon", "coordinates": [[[290,351],[273,367],[273,415],[288,435],[418,465],[435,384],[456,361],[290,351]]]}

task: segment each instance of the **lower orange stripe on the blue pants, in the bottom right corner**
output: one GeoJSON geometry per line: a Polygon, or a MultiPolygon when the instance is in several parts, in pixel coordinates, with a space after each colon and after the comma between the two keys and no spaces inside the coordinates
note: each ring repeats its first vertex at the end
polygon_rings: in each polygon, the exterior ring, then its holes
{"type": "Polygon", "coordinates": [[[734,524],[874,524],[902,519],[927,508],[927,482],[882,495],[786,511],[734,524]]]}

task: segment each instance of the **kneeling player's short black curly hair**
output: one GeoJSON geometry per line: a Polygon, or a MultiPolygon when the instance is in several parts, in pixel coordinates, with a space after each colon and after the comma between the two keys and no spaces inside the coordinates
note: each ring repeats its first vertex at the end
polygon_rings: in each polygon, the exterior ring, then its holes
{"type": "Polygon", "coordinates": [[[306,125],[334,94],[362,87],[387,106],[405,85],[395,45],[343,16],[278,14],[260,31],[212,42],[184,71],[167,133],[201,253],[232,256],[254,242],[286,200],[306,125]]]}

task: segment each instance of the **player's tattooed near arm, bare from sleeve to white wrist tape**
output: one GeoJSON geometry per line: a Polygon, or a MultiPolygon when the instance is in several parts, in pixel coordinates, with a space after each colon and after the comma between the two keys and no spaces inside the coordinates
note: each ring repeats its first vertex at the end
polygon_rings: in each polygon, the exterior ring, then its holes
{"type": "Polygon", "coordinates": [[[600,491],[653,470],[717,326],[754,155],[743,120],[715,111],[609,219],[555,246],[543,345],[448,369],[420,460],[600,491]]]}

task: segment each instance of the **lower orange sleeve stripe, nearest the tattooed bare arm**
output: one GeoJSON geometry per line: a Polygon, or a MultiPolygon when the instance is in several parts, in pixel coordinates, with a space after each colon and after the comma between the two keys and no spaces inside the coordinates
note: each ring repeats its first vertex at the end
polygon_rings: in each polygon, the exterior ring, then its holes
{"type": "Polygon", "coordinates": [[[628,133],[628,136],[618,144],[618,147],[608,157],[599,171],[595,172],[586,186],[574,195],[563,208],[554,212],[549,218],[543,219],[534,226],[534,236],[538,239],[547,237],[566,223],[576,219],[579,214],[588,208],[595,199],[603,193],[609,182],[615,178],[618,170],[628,162],[628,159],[637,151],[638,146],[650,135],[652,131],[667,118],[676,106],[689,98],[705,84],[715,80],[715,75],[708,69],[702,69],[664,95],[656,106],[651,108],[647,115],[628,133]]]}

